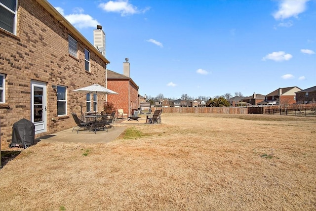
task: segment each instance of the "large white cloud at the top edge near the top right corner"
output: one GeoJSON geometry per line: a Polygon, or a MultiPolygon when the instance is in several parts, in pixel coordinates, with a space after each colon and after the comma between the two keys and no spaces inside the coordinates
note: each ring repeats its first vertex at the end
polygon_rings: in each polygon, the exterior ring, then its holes
{"type": "Polygon", "coordinates": [[[276,20],[290,17],[297,18],[300,13],[306,10],[307,1],[309,0],[282,0],[273,16],[276,20]]]}

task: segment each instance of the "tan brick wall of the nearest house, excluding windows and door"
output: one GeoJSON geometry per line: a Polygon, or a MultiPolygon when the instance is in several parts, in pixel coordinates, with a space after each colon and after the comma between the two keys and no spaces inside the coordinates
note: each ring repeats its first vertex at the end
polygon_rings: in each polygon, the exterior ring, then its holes
{"type": "MultiPolygon", "coordinates": [[[[105,63],[92,51],[91,72],[84,70],[85,47],[89,50],[89,46],[80,42],[37,1],[18,1],[17,35],[0,29],[0,73],[6,75],[6,102],[0,104],[1,149],[11,141],[13,123],[22,118],[31,120],[32,80],[47,84],[45,134],[75,127],[69,114],[80,114],[80,104],[85,111],[86,96],[72,90],[91,84],[104,85],[105,81],[105,63]],[[69,34],[78,41],[78,58],[68,54],[69,34]],[[66,116],[57,117],[57,96],[52,84],[68,87],[66,116]]],[[[98,95],[98,99],[100,108],[105,95],[98,95]]]]}

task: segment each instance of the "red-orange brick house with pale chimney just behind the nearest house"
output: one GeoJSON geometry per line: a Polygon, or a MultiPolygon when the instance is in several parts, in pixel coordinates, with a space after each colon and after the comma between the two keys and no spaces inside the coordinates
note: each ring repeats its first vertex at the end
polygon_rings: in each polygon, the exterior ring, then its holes
{"type": "Polygon", "coordinates": [[[123,75],[107,71],[108,88],[118,92],[118,94],[108,95],[108,102],[112,102],[118,109],[123,109],[124,113],[131,114],[133,109],[139,108],[138,85],[129,77],[130,64],[128,59],[123,62],[123,75]]]}

